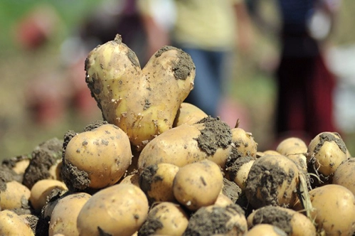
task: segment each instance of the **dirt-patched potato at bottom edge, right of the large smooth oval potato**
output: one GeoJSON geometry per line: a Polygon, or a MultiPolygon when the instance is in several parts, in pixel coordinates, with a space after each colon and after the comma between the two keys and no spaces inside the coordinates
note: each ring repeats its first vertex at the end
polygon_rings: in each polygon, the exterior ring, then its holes
{"type": "Polygon", "coordinates": [[[149,211],[147,220],[139,229],[138,235],[171,235],[184,233],[189,224],[189,216],[180,205],[163,202],[149,211]]]}

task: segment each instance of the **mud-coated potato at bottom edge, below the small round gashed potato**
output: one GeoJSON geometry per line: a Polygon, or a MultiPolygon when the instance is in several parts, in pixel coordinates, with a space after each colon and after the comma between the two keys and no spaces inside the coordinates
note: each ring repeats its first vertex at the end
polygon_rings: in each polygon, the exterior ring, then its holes
{"type": "Polygon", "coordinates": [[[244,210],[239,205],[210,205],[198,209],[189,220],[184,236],[236,235],[248,231],[244,210]]]}

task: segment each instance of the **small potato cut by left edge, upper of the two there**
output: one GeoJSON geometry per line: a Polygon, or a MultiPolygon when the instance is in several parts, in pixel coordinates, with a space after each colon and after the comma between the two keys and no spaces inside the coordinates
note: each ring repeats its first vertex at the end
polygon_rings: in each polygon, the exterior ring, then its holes
{"type": "Polygon", "coordinates": [[[0,209],[13,210],[28,206],[31,191],[17,181],[10,181],[4,185],[4,189],[0,188],[0,209]]]}

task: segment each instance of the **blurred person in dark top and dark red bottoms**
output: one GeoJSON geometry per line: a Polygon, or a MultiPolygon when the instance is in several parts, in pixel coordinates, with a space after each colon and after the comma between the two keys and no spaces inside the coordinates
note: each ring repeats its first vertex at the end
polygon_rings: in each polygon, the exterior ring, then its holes
{"type": "MultiPolygon", "coordinates": [[[[251,15],[270,29],[258,13],[258,0],[248,0],[251,15]]],[[[300,136],[309,141],[320,132],[337,132],[333,114],[336,78],[324,58],[339,0],[277,0],[280,11],[280,63],[275,71],[278,139],[300,136]]],[[[274,28],[275,29],[275,28],[274,28]]]]}

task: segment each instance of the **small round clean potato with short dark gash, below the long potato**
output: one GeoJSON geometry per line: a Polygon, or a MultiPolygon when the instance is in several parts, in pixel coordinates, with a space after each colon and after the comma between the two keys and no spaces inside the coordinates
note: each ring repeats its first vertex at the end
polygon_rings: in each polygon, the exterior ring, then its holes
{"type": "Polygon", "coordinates": [[[183,166],[176,173],[173,192],[189,210],[216,202],[223,188],[223,174],[213,161],[203,160],[183,166]]]}

